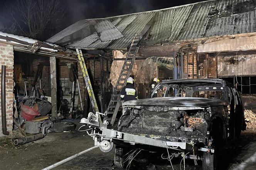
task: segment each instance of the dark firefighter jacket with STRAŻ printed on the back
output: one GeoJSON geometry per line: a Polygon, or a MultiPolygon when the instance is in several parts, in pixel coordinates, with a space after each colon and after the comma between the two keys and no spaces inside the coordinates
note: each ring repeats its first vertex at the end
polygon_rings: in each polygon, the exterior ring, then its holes
{"type": "Polygon", "coordinates": [[[125,87],[121,90],[120,93],[121,100],[129,101],[129,100],[135,100],[138,98],[138,94],[133,87],[133,84],[127,83],[125,87]]]}

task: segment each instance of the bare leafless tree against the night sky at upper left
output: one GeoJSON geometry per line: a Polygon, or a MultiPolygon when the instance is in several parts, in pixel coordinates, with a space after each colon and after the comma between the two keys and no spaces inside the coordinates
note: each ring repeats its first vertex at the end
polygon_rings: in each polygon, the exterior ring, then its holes
{"type": "Polygon", "coordinates": [[[52,29],[58,27],[56,18],[65,15],[60,0],[17,0],[10,8],[12,33],[45,40],[52,29]]]}

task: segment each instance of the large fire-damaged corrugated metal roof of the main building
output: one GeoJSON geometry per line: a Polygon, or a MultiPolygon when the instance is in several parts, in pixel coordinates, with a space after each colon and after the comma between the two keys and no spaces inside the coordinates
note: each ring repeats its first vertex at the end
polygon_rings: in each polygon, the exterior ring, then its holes
{"type": "Polygon", "coordinates": [[[143,45],[146,46],[252,33],[256,32],[255,6],[256,0],[210,0],[162,10],[82,20],[47,42],[57,40],[61,44],[69,43],[66,46],[69,48],[126,49],[133,35],[140,33],[146,25],[151,25],[143,38],[143,45]],[[98,34],[93,31],[91,35],[77,40],[79,34],[75,32],[89,26],[97,28],[98,34]],[[76,37],[73,40],[72,35],[76,37]],[[69,38],[65,38],[67,36],[69,38]]]}

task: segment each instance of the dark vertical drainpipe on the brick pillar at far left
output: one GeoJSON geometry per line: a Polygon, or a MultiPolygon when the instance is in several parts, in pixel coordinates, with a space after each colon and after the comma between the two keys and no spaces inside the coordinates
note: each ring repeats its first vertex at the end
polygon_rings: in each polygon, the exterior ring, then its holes
{"type": "Polygon", "coordinates": [[[1,73],[1,112],[2,112],[2,132],[9,135],[6,126],[6,92],[5,92],[6,65],[2,65],[1,73]]]}

